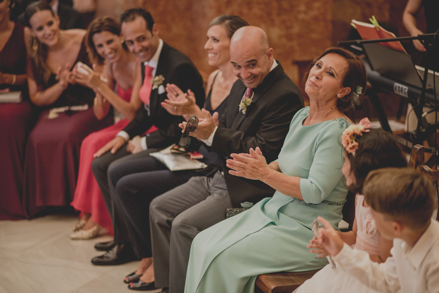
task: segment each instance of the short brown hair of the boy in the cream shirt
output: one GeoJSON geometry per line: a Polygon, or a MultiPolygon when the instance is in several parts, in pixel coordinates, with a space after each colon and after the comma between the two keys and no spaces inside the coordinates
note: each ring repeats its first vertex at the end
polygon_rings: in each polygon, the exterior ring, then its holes
{"type": "Polygon", "coordinates": [[[372,209],[414,231],[425,229],[437,207],[431,180],[408,168],[370,172],[363,193],[372,209]]]}

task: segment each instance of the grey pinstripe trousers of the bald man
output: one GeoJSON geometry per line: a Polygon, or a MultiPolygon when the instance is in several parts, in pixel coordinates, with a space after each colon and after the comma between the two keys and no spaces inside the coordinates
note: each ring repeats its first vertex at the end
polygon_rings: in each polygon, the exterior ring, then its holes
{"type": "Polygon", "coordinates": [[[154,198],[149,208],[156,287],[183,293],[192,240],[231,208],[224,176],[192,177],[154,198]]]}

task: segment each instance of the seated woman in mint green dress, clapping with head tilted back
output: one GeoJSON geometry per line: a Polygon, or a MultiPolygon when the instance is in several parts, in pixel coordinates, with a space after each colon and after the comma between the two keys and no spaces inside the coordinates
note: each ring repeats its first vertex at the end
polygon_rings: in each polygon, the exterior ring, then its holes
{"type": "Polygon", "coordinates": [[[310,66],[300,110],[276,161],[259,148],[232,154],[230,174],[261,180],[276,189],[272,198],[198,234],[192,242],[185,293],[253,293],[259,274],[322,268],[306,248],[318,215],[334,227],[342,218],[347,187],[341,173],[341,133],[350,125],[341,111],[361,95],[366,71],[341,48],[325,50],[310,66]]]}

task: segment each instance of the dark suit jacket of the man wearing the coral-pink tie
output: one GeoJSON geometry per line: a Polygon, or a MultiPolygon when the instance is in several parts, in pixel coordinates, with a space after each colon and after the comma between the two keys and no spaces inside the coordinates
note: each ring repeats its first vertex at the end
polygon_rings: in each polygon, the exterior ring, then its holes
{"type": "MultiPolygon", "coordinates": [[[[167,83],[174,83],[183,92],[188,89],[194,92],[197,105],[200,108],[204,104],[203,81],[195,65],[183,53],[170,47],[163,42],[157,65],[156,76],[162,75],[165,79],[163,86],[167,83]]],[[[181,137],[179,123],[183,121],[181,116],[169,114],[160,103],[166,98],[166,92],[159,95],[159,89],[151,90],[149,109],[150,114],[144,105],[140,107],[137,116],[123,129],[132,138],[144,133],[152,125],[159,128],[158,131],[146,138],[148,148],[164,148],[172,143],[178,143],[181,137]]]]}

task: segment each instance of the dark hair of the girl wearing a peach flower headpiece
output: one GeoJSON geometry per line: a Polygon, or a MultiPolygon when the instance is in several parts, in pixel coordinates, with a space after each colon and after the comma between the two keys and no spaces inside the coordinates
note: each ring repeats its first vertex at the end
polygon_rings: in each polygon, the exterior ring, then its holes
{"type": "Polygon", "coordinates": [[[382,129],[372,128],[357,136],[358,150],[355,156],[347,153],[351,164],[351,172],[355,183],[349,187],[354,193],[362,193],[363,183],[369,172],[386,167],[407,167],[407,159],[403,154],[395,135],[382,129]]]}

